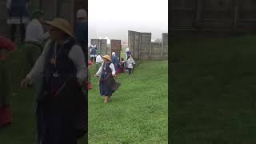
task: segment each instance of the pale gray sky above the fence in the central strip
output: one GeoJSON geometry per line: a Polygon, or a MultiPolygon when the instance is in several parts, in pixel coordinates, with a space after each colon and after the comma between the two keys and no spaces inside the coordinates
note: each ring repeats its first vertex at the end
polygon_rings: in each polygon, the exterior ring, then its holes
{"type": "Polygon", "coordinates": [[[89,39],[128,42],[128,30],[151,32],[152,39],[168,32],[168,0],[89,0],[89,39]]]}

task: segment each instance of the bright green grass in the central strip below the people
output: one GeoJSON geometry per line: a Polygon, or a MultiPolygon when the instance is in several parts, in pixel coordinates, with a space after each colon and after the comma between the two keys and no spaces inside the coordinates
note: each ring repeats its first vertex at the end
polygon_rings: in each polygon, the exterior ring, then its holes
{"type": "Polygon", "coordinates": [[[137,63],[134,74],[118,75],[122,84],[110,103],[103,103],[92,78],[89,143],[167,143],[167,61],[137,63]]]}

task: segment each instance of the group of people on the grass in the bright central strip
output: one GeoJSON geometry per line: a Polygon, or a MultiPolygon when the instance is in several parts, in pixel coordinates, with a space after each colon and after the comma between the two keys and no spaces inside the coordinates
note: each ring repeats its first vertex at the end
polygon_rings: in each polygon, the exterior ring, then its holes
{"type": "Polygon", "coordinates": [[[99,77],[99,92],[105,98],[104,102],[110,102],[110,97],[120,86],[120,83],[114,80],[117,74],[124,73],[128,70],[130,75],[133,71],[134,64],[135,62],[131,57],[129,48],[126,48],[126,61],[124,61],[124,58],[121,58],[120,61],[114,52],[112,52],[111,57],[107,54],[102,56],[98,52],[95,62],[97,72],[94,74],[94,77],[99,77]]]}

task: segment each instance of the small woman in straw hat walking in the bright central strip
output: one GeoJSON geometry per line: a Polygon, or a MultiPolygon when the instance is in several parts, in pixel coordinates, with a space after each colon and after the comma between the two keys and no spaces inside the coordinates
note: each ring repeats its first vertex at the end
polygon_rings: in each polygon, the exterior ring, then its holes
{"type": "Polygon", "coordinates": [[[94,77],[100,76],[99,80],[99,91],[102,96],[105,97],[104,102],[109,102],[110,97],[117,89],[112,89],[116,83],[113,83],[114,77],[116,77],[114,64],[111,62],[109,55],[104,55],[102,66],[98,69],[98,72],[94,74],[94,77]]]}

